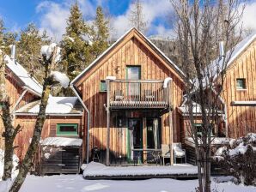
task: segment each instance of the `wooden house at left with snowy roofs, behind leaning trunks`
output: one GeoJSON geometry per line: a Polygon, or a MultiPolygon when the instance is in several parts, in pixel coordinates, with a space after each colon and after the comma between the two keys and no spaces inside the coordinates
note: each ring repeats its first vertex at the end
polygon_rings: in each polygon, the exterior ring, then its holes
{"type": "MultiPolygon", "coordinates": [[[[33,136],[36,116],[39,112],[42,86],[27,73],[20,63],[6,57],[6,89],[9,94],[14,125],[21,125],[15,137],[15,153],[22,159],[33,136]]],[[[0,134],[4,131],[0,120],[0,134]]],[[[50,96],[46,107],[46,122],[42,139],[46,137],[82,137],[82,105],[76,97],[50,96]]],[[[1,136],[0,148],[4,148],[1,136]]]]}

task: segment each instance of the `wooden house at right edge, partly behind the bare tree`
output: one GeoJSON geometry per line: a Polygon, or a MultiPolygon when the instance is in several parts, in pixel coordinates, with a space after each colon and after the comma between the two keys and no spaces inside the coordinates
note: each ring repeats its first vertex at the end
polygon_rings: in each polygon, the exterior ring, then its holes
{"type": "MultiPolygon", "coordinates": [[[[229,51],[227,52],[229,54],[229,51]]],[[[256,34],[248,36],[235,46],[227,64],[226,75],[223,82],[223,91],[219,99],[220,121],[213,130],[215,136],[237,138],[247,133],[256,132],[256,34]]],[[[210,63],[210,76],[218,81],[216,63],[222,69],[222,60],[210,63]]],[[[183,117],[185,137],[190,122],[187,117],[187,106],[183,103],[179,108],[183,117]]],[[[197,126],[201,126],[200,106],[195,103],[194,115],[197,117],[197,126]]]]}

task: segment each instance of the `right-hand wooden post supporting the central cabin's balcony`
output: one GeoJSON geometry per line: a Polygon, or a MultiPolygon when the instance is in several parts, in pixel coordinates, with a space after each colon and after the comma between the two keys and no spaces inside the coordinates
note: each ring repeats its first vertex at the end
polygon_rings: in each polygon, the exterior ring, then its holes
{"type": "Polygon", "coordinates": [[[169,129],[170,129],[170,165],[174,165],[173,139],[174,139],[174,123],[173,123],[173,109],[172,109],[172,82],[168,82],[168,101],[169,101],[169,129]]]}

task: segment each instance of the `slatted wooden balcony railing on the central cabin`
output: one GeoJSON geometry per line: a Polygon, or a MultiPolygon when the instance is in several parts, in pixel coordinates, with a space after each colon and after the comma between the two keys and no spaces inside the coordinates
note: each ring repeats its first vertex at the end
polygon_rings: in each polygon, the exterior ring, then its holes
{"type": "Polygon", "coordinates": [[[167,108],[169,88],[164,81],[110,80],[107,81],[110,108],[167,108]]]}

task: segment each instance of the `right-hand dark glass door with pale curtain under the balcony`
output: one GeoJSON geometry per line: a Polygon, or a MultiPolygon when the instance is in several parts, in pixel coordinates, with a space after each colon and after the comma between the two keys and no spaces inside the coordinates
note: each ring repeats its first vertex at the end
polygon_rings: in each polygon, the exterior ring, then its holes
{"type": "Polygon", "coordinates": [[[147,147],[161,148],[161,119],[147,118],[147,147]]]}

